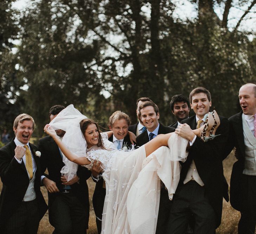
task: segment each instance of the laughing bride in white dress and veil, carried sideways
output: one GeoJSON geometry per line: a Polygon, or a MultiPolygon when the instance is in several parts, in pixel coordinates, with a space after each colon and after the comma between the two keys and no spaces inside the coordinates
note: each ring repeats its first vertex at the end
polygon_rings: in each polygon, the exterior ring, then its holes
{"type": "MultiPolygon", "coordinates": [[[[214,120],[209,113],[205,125],[192,132],[199,137],[202,133],[204,138],[212,127],[214,120]]],[[[101,162],[106,182],[101,233],[155,233],[160,180],[171,200],[179,182],[179,161],[186,160],[187,139],[176,133],[160,134],[138,149],[117,150],[107,134],[100,133],[98,124],[73,105],[61,111],[44,130],[66,156],[64,162],[70,172],[75,171],[72,162],[88,169],[94,161],[101,162]],[[56,129],[66,131],[62,141],[56,129]]]]}

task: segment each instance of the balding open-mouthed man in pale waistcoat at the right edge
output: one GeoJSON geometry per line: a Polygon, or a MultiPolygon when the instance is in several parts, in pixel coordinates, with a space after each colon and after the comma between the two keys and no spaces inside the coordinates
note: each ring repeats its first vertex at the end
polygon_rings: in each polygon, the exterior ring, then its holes
{"type": "Polygon", "coordinates": [[[230,203],[241,212],[238,233],[254,233],[256,225],[256,85],[239,89],[242,111],[229,118],[230,131],[226,155],[236,147],[238,161],[230,179],[230,203]]]}

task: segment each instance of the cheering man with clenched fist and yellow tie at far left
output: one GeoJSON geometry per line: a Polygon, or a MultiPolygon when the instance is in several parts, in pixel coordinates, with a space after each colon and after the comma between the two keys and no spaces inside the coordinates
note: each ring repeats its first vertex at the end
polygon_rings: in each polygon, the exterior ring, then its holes
{"type": "Polygon", "coordinates": [[[1,233],[36,234],[47,205],[40,191],[40,163],[37,147],[29,143],[34,120],[20,114],[13,123],[15,139],[0,148],[1,233]]]}

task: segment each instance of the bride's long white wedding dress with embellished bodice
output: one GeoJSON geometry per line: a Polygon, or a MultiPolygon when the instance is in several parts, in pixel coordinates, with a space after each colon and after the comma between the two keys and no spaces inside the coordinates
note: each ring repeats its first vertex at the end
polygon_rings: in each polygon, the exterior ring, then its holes
{"type": "MultiPolygon", "coordinates": [[[[73,105],[72,108],[74,108],[73,105]]],[[[78,116],[79,122],[80,117],[78,116]]],[[[60,125],[56,126],[56,123],[58,121],[55,120],[55,123],[50,123],[50,125],[55,129],[60,128],[60,125]]],[[[91,150],[83,155],[91,161],[91,164],[85,165],[85,167],[90,169],[96,160],[101,162],[104,169],[106,197],[101,233],[155,233],[160,199],[160,180],[168,190],[171,200],[179,182],[179,161],[185,161],[188,155],[186,153],[188,140],[173,133],[168,140],[169,148],[162,146],[146,158],[144,146],[131,151],[116,150],[113,143],[108,141],[107,134],[102,133],[101,135],[106,149],[91,150]]],[[[81,141],[84,142],[84,140],[81,141]]],[[[67,146],[74,150],[73,146],[67,146]]],[[[81,149],[81,151],[83,150],[81,149]]]]}

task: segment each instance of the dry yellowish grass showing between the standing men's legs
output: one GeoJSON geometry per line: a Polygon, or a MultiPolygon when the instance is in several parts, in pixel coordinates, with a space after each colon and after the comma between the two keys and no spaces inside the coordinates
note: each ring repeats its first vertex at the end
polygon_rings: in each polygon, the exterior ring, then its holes
{"type": "MultiPolygon", "coordinates": [[[[224,175],[230,185],[230,175],[232,171],[232,165],[236,161],[234,154],[231,153],[224,161],[224,175]]],[[[89,187],[89,200],[90,200],[90,219],[89,219],[89,229],[87,230],[87,234],[97,234],[97,227],[95,223],[95,214],[92,207],[92,194],[94,191],[95,183],[90,179],[87,180],[89,187]]],[[[2,182],[0,181],[0,190],[2,188],[2,182]]],[[[42,194],[46,202],[48,202],[47,191],[45,187],[41,187],[42,194]]],[[[237,210],[233,209],[230,206],[229,202],[226,202],[223,199],[223,210],[222,210],[222,222],[221,226],[216,230],[217,234],[223,233],[237,233],[237,224],[240,218],[240,214],[237,210]]],[[[48,221],[48,212],[46,212],[45,216],[40,221],[38,233],[39,234],[48,234],[53,232],[53,227],[50,225],[48,221]]]]}

